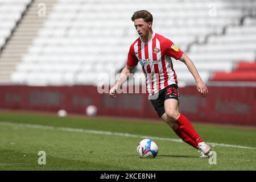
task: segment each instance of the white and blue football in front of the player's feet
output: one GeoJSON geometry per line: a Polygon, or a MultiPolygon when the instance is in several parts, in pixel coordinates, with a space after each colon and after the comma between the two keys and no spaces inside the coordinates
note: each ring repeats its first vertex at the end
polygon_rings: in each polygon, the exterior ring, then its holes
{"type": "Polygon", "coordinates": [[[137,153],[140,158],[155,158],[158,155],[158,145],[151,139],[143,139],[138,144],[137,153]]]}

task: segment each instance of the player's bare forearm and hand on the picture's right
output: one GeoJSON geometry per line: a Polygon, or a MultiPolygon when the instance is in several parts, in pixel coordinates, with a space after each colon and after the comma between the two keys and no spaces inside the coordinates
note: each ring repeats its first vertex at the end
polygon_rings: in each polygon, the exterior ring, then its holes
{"type": "Polygon", "coordinates": [[[207,89],[207,86],[204,84],[203,80],[201,79],[199,73],[197,72],[197,69],[195,67],[195,64],[193,64],[193,61],[189,59],[189,57],[185,55],[185,53],[183,53],[183,55],[180,57],[179,60],[185,63],[185,65],[187,65],[188,70],[191,72],[191,74],[195,78],[198,92],[200,92],[201,95],[205,97],[208,93],[208,89],[207,89]]]}

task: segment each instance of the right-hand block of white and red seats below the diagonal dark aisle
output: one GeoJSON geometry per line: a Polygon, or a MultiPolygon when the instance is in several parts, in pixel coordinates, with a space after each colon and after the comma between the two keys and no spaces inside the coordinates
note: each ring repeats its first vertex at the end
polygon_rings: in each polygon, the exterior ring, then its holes
{"type": "Polygon", "coordinates": [[[210,71],[213,76],[209,79],[212,81],[255,81],[255,70],[238,69],[232,72],[241,60],[249,62],[241,65],[254,65],[250,62],[256,59],[255,22],[256,18],[248,16],[243,20],[243,24],[226,27],[225,34],[209,36],[206,44],[191,46],[188,55],[196,60],[196,63],[208,62],[208,67],[217,68],[210,71]]]}

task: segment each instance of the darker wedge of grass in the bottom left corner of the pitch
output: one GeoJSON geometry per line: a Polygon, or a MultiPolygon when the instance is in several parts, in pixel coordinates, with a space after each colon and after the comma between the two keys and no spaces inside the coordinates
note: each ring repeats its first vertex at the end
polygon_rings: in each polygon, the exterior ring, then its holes
{"type": "Polygon", "coordinates": [[[0,149],[0,171],[2,170],[127,170],[126,167],[115,166],[113,164],[106,164],[104,161],[92,162],[88,160],[72,160],[65,159],[64,156],[46,156],[46,165],[39,165],[39,156],[35,153],[22,152],[15,150],[0,149]]]}

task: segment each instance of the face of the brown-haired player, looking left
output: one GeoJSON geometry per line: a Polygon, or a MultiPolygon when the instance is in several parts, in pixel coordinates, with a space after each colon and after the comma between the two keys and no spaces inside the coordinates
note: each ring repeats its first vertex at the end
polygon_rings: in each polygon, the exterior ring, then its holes
{"type": "Polygon", "coordinates": [[[148,35],[148,32],[150,31],[150,28],[152,26],[152,23],[145,22],[144,19],[139,18],[134,20],[134,26],[141,38],[145,38],[148,35]]]}

